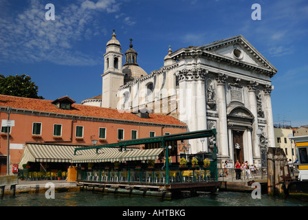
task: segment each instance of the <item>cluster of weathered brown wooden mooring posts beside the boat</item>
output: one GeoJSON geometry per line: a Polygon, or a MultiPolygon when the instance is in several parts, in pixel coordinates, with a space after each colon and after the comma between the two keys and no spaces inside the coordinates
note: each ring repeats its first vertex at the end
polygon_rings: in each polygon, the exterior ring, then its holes
{"type": "Polygon", "coordinates": [[[267,194],[283,195],[285,173],[289,173],[287,157],[282,148],[270,147],[267,150],[267,194]]]}

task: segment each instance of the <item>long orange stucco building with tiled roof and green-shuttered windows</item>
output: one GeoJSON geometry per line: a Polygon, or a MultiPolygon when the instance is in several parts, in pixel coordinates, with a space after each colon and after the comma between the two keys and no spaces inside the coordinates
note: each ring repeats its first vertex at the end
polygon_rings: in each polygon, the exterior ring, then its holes
{"type": "MultiPolygon", "coordinates": [[[[39,100],[0,95],[0,119],[10,107],[10,172],[19,164],[27,144],[89,146],[186,132],[186,124],[168,115],[120,112],[116,109],[76,104],[68,96],[39,100]]],[[[0,133],[1,174],[6,173],[7,128],[0,133]]]]}

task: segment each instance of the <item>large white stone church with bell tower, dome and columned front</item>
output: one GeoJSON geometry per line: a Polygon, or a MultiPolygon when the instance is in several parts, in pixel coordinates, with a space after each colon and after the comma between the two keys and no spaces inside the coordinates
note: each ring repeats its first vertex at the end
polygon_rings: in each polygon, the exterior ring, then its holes
{"type": "MultiPolygon", "coordinates": [[[[270,95],[277,69],[243,36],[169,48],[164,66],[150,74],[137,64],[132,44],[121,50],[113,32],[104,54],[102,107],[173,115],[188,131],[216,128],[221,162],[265,162],[267,147],[275,146],[270,95]]],[[[189,153],[212,151],[211,139],[189,143],[189,153]]]]}

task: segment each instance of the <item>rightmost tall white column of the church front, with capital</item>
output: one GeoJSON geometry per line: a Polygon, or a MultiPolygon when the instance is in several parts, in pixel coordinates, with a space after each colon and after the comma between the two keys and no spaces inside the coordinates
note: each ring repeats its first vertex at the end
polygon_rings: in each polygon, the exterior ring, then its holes
{"type": "Polygon", "coordinates": [[[271,100],[272,85],[265,85],[263,91],[265,95],[265,119],[267,125],[268,147],[275,147],[274,122],[271,100]]]}

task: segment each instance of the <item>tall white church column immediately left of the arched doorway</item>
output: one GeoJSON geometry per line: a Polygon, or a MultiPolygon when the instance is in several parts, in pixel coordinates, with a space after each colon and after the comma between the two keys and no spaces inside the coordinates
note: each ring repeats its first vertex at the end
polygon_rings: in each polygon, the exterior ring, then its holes
{"type": "Polygon", "coordinates": [[[217,109],[218,109],[218,147],[221,157],[229,157],[228,153],[228,128],[227,109],[225,104],[225,80],[227,75],[219,73],[217,76],[217,109]]]}

